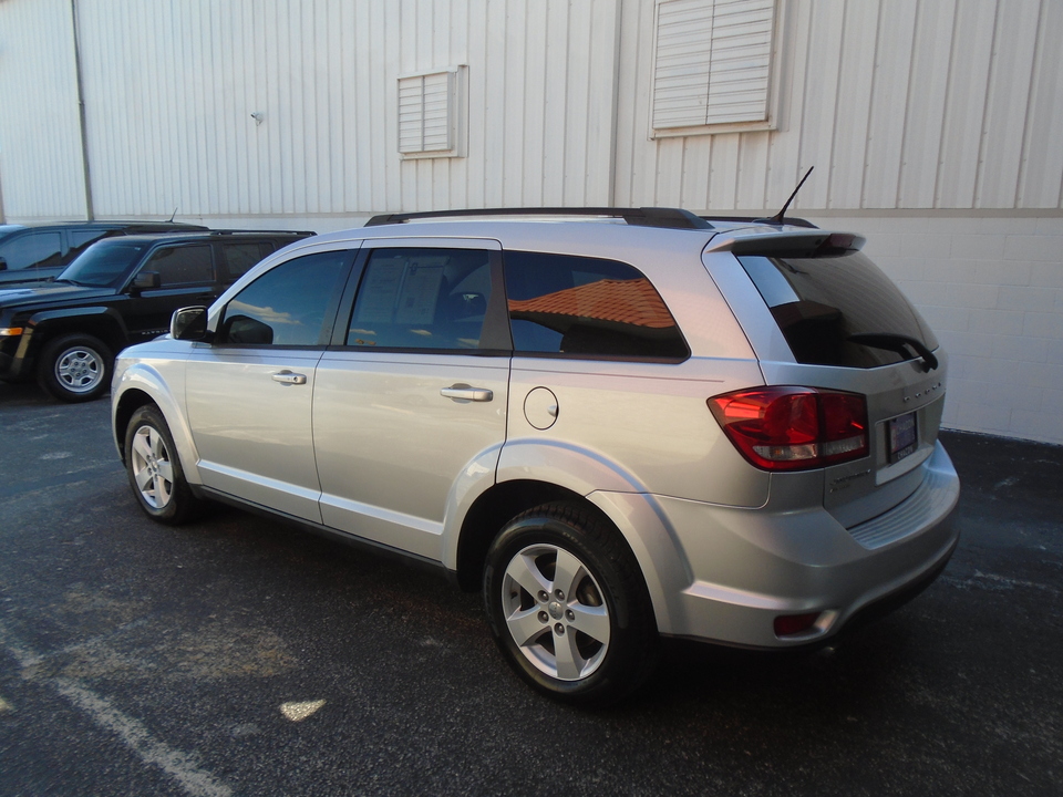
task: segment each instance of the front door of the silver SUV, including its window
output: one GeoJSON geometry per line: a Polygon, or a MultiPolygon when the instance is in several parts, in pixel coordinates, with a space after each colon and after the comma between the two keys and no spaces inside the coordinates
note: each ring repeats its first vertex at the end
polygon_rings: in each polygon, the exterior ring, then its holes
{"type": "Polygon", "coordinates": [[[185,400],[205,486],[321,521],[311,398],[353,250],[283,261],[229,300],[197,344],[185,400]]]}

